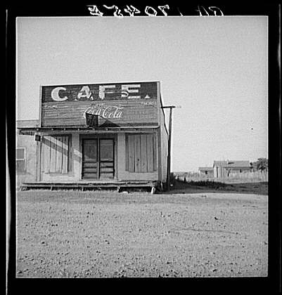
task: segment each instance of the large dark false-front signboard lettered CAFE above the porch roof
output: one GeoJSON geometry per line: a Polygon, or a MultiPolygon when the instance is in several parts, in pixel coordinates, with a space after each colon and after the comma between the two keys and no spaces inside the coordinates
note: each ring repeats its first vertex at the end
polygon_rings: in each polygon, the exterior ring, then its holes
{"type": "Polygon", "coordinates": [[[158,81],[41,86],[41,126],[84,126],[86,114],[103,126],[158,124],[158,81]]]}

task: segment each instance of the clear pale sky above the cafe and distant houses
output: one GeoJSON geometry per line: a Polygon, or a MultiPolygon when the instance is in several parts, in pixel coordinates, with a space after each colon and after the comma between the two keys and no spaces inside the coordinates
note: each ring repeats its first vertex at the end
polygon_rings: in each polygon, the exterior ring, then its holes
{"type": "Polygon", "coordinates": [[[16,119],[40,85],[160,81],[172,171],[268,158],[264,16],[16,19],[16,119]],[[168,126],[168,112],[166,113],[168,126]]]}

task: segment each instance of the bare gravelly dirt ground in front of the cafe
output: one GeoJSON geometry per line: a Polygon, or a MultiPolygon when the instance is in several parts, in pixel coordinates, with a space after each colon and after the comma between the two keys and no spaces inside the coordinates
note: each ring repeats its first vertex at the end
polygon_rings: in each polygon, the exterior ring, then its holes
{"type": "Polygon", "coordinates": [[[17,193],[16,277],[265,277],[268,197],[17,193]]]}

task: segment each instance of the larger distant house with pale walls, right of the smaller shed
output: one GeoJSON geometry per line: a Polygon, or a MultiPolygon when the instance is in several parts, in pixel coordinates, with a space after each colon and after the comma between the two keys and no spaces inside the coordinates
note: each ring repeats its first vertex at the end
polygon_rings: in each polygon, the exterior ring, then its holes
{"type": "Polygon", "coordinates": [[[214,161],[214,177],[228,177],[232,174],[250,172],[250,161],[214,161]]]}

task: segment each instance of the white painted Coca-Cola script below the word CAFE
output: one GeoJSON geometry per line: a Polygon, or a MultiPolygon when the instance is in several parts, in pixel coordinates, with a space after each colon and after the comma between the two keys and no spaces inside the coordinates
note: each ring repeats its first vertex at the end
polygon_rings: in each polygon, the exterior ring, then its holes
{"type": "Polygon", "coordinates": [[[122,118],[123,107],[115,105],[104,105],[103,103],[91,103],[90,107],[84,111],[83,117],[85,118],[85,113],[96,114],[104,119],[120,119],[122,118]]]}

